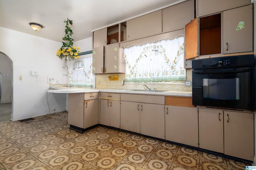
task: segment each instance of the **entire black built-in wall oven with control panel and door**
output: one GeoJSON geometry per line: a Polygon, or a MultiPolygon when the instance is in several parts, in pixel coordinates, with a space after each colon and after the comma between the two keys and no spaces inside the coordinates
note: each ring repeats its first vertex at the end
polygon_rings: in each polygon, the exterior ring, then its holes
{"type": "Polygon", "coordinates": [[[192,61],[192,104],[255,110],[254,55],[192,61]]]}

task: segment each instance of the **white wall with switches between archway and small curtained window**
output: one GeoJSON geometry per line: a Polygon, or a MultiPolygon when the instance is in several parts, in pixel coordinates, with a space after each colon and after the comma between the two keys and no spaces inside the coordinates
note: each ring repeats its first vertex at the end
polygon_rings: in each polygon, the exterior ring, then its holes
{"type": "MultiPolygon", "coordinates": [[[[67,77],[63,75],[66,70],[62,68],[66,64],[55,55],[62,43],[3,27],[0,27],[0,37],[0,52],[13,62],[12,120],[50,113],[46,101],[47,76],[67,84],[67,77]],[[38,71],[39,76],[32,76],[32,70],[38,71]]],[[[55,112],[65,110],[66,94],[49,94],[48,99],[51,113],[53,109],[55,112]]]]}

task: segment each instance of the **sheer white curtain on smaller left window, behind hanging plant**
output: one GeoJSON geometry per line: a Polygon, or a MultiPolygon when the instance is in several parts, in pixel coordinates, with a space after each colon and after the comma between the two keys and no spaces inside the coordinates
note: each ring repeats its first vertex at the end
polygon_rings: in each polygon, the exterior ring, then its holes
{"type": "Polygon", "coordinates": [[[95,78],[92,74],[92,54],[84,55],[76,60],[68,60],[67,69],[69,86],[93,87],[95,78]],[[81,64],[82,68],[76,69],[77,64],[81,64]]]}

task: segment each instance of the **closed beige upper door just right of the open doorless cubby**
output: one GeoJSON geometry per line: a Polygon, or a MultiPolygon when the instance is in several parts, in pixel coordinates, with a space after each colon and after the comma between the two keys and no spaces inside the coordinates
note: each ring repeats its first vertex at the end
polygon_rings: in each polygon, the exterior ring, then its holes
{"type": "Polygon", "coordinates": [[[127,40],[138,39],[162,32],[162,10],[126,21],[127,40]]]}

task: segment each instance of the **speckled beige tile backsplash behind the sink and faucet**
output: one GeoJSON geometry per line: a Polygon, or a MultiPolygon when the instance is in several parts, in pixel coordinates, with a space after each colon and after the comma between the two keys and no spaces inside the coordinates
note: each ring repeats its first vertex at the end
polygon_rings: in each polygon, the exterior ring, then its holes
{"type": "MultiPolygon", "coordinates": [[[[151,89],[156,90],[176,90],[176,91],[192,91],[192,86],[185,86],[185,81],[172,81],[172,82],[159,82],[159,83],[126,83],[121,84],[121,81],[125,80],[125,73],[115,74],[96,74],[95,88],[107,88],[107,89],[145,89],[143,86],[146,84],[151,89]],[[118,81],[110,81],[108,76],[118,75],[118,81]]],[[[186,69],[186,80],[192,81],[192,69],[186,69]]]]}

